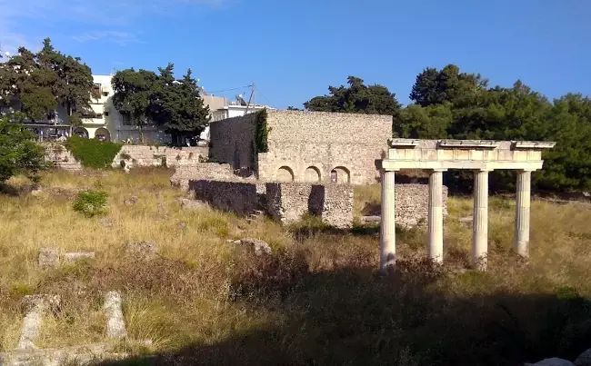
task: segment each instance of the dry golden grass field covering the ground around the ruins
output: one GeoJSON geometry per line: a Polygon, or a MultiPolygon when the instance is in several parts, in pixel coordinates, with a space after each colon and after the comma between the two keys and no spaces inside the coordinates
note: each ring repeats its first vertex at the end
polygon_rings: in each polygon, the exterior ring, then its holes
{"type": "MultiPolygon", "coordinates": [[[[129,339],[142,364],[517,365],[574,360],[591,347],[591,211],[586,203],[532,203],[531,260],[511,252],[515,203],[491,197],[489,271],[469,268],[469,198],[450,198],[445,261],[433,267],[426,232],[398,232],[400,271],[376,275],[375,228],[338,232],[308,218],[284,228],[229,213],[181,210],[172,172],[45,173],[43,193],[13,179],[0,195],[0,351],[15,347],[33,293],[58,293],[41,347],[105,341],[102,294],[124,294],[129,339]],[[103,190],[108,213],[72,209],[77,190],[103,190]],[[139,202],[124,204],[135,195],[139,202]],[[108,219],[108,220],[107,220],[108,219]],[[105,220],[111,225],[105,224],[105,220]],[[257,258],[228,239],[260,238],[257,258]],[[155,242],[160,258],[125,256],[125,242],[155,242]],[[93,262],[37,267],[42,247],[96,252],[93,262]],[[145,345],[145,340],[151,344],[145,345]],[[147,362],[147,361],[146,361],[147,362]]],[[[379,203],[356,189],[356,212],[379,203]]],[[[125,363],[122,362],[122,363],[125,363]]]]}

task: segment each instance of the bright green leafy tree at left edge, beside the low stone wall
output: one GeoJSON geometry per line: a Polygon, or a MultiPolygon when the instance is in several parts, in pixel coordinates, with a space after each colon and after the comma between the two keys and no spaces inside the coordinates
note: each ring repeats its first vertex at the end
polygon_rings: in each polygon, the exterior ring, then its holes
{"type": "Polygon", "coordinates": [[[23,173],[35,182],[45,168],[44,151],[23,124],[7,116],[0,119],[0,183],[23,173]]]}

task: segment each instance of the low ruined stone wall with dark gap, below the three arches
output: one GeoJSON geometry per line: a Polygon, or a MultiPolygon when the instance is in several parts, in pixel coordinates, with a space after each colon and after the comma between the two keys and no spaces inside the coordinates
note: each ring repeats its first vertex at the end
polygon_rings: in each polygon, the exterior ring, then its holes
{"type": "Polygon", "coordinates": [[[325,223],[345,228],[353,223],[353,186],[266,183],[266,209],[281,223],[296,223],[310,213],[325,223]]]}

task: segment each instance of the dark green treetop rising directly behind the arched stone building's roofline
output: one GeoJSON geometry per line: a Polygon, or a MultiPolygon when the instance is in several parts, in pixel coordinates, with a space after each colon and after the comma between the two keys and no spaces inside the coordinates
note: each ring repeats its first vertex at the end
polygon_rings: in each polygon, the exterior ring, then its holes
{"type": "Polygon", "coordinates": [[[304,104],[306,110],[389,115],[395,115],[400,110],[396,94],[390,93],[386,86],[367,86],[362,79],[355,76],[349,76],[347,84],[348,86],[329,86],[328,95],[316,96],[304,104]]]}

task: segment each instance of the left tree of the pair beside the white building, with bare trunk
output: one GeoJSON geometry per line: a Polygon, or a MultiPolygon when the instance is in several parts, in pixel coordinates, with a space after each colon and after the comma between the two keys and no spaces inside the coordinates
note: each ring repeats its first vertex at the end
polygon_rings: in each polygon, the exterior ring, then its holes
{"type": "Polygon", "coordinates": [[[111,81],[115,91],[113,104],[137,126],[142,143],[145,143],[144,126],[150,116],[150,99],[155,80],[155,73],[131,68],[117,72],[111,81]]]}

